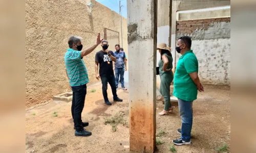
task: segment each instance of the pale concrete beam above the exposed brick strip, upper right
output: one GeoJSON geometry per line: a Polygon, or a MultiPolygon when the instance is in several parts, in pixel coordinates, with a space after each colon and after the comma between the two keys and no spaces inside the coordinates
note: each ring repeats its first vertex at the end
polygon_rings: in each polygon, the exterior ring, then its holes
{"type": "Polygon", "coordinates": [[[230,17],[230,9],[212,10],[203,12],[178,13],[177,20],[193,20],[216,17],[230,17]]]}

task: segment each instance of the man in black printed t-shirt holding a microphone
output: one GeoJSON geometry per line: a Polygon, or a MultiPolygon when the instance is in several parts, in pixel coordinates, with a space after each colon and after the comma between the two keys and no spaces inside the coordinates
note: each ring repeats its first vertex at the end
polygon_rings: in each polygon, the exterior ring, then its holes
{"type": "Polygon", "coordinates": [[[116,84],[115,84],[115,75],[113,71],[113,62],[116,61],[114,53],[111,50],[108,50],[109,43],[106,40],[101,42],[102,50],[96,53],[95,55],[95,74],[96,79],[101,79],[102,83],[102,94],[106,105],[112,105],[108,98],[108,83],[111,86],[112,93],[114,96],[114,101],[123,101],[117,97],[116,94],[116,84]],[[99,68],[98,68],[99,67],[99,68]],[[99,69],[99,73],[98,73],[99,69]]]}

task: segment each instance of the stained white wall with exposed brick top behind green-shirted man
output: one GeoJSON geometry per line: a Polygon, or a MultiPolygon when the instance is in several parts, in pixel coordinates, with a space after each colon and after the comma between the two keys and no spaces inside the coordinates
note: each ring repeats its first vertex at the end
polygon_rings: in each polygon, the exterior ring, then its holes
{"type": "MultiPolygon", "coordinates": [[[[176,28],[176,40],[184,35],[192,39],[201,82],[230,85],[230,17],[177,21],[176,28]]],[[[180,56],[176,54],[177,62],[180,56]]]]}

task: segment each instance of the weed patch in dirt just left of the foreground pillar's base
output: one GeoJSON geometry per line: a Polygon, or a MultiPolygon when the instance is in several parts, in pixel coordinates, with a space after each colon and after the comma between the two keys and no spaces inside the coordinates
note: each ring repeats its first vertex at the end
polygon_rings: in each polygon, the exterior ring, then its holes
{"type": "Polygon", "coordinates": [[[112,131],[116,132],[117,130],[117,125],[123,124],[123,125],[127,125],[127,122],[125,119],[123,119],[123,115],[118,115],[116,114],[114,117],[106,117],[105,119],[105,125],[106,124],[111,124],[112,125],[112,131]]]}

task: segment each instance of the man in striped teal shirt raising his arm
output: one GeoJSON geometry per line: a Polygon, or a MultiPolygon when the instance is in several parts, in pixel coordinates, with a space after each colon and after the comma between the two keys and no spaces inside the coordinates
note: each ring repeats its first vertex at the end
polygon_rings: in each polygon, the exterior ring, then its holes
{"type": "Polygon", "coordinates": [[[73,91],[71,113],[74,121],[75,136],[91,136],[92,133],[83,129],[88,122],[82,122],[81,113],[86,99],[87,83],[89,83],[88,72],[82,58],[87,56],[101,43],[100,34],[97,36],[96,44],[82,50],[81,37],[71,36],[69,48],[65,54],[66,73],[69,84],[73,91]]]}

